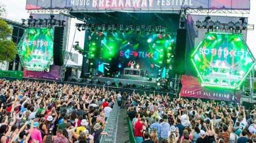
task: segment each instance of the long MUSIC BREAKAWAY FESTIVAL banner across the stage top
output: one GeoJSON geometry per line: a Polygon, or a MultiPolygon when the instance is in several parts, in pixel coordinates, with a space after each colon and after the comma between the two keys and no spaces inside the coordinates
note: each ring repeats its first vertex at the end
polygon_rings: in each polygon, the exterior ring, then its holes
{"type": "Polygon", "coordinates": [[[27,0],[26,9],[181,9],[182,3],[192,9],[250,9],[249,0],[27,0]]]}

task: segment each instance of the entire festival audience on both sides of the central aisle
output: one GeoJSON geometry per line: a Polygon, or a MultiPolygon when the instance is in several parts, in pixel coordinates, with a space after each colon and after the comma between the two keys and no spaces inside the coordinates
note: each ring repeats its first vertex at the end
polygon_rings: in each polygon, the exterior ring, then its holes
{"type": "Polygon", "coordinates": [[[87,143],[114,102],[127,109],[136,142],[256,143],[256,106],[156,94],[116,93],[69,84],[0,80],[0,143],[87,143]]]}

